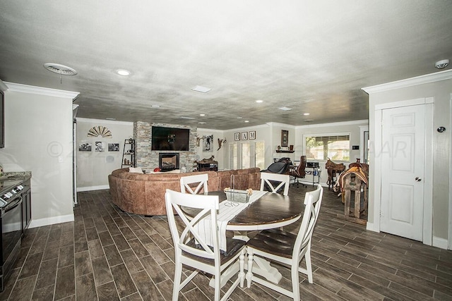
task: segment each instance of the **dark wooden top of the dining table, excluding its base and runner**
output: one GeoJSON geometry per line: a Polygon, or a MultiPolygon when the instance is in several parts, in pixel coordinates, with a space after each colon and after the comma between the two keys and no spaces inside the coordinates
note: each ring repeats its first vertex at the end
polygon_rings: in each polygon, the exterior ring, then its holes
{"type": "MultiPolygon", "coordinates": [[[[208,195],[218,195],[220,202],[226,199],[223,191],[208,192],[208,195]]],[[[197,210],[184,209],[184,211],[190,216],[195,216],[197,210]]],[[[299,198],[268,192],[231,219],[227,223],[227,230],[256,231],[287,226],[297,221],[303,211],[304,204],[299,198]]]]}

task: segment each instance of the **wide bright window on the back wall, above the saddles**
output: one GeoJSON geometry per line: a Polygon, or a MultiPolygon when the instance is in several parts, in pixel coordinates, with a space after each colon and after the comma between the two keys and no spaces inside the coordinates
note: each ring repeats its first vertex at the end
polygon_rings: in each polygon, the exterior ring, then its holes
{"type": "Polygon", "coordinates": [[[307,159],[350,161],[350,135],[305,136],[307,159]]]}

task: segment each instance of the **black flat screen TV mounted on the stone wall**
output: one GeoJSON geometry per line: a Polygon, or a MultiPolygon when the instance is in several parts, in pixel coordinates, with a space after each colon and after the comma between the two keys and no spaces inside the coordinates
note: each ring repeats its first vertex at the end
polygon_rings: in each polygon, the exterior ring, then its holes
{"type": "Polygon", "coordinates": [[[190,130],[188,128],[165,128],[153,126],[151,149],[153,151],[188,151],[190,130]]]}

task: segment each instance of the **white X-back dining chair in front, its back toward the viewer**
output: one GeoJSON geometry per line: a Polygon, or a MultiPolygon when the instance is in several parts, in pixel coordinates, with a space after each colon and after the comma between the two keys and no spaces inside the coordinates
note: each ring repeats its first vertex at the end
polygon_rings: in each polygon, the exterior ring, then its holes
{"type": "Polygon", "coordinates": [[[237,288],[237,285],[240,284],[241,287],[244,286],[246,242],[244,242],[244,240],[227,238],[227,252],[220,252],[220,242],[217,231],[218,196],[191,195],[189,193],[176,192],[167,189],[165,193],[165,204],[167,207],[167,219],[172,240],[174,242],[175,253],[172,300],[178,299],[179,291],[182,290],[199,271],[204,271],[213,275],[213,282],[215,283],[214,300],[220,300],[222,272],[238,261],[239,273],[237,280],[232,283],[225,295],[221,298],[221,300],[227,300],[233,290],[237,288]],[[181,207],[200,209],[201,211],[196,216],[190,217],[186,215],[181,207]],[[182,220],[183,226],[181,233],[177,230],[177,224],[180,226],[181,223],[176,222],[174,211],[176,214],[179,214],[179,218],[182,220]],[[196,226],[198,223],[202,223],[204,218],[210,219],[210,233],[213,238],[211,246],[207,245],[204,234],[199,231],[199,229],[203,227],[198,228],[196,226]],[[183,265],[191,266],[195,271],[181,283],[183,265]]]}

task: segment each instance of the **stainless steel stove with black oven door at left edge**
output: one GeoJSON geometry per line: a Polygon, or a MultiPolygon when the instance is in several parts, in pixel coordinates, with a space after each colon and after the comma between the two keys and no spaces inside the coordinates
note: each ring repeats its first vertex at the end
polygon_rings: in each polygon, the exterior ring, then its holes
{"type": "Polygon", "coordinates": [[[22,240],[22,180],[0,181],[1,268],[0,291],[20,252],[22,240]]]}

